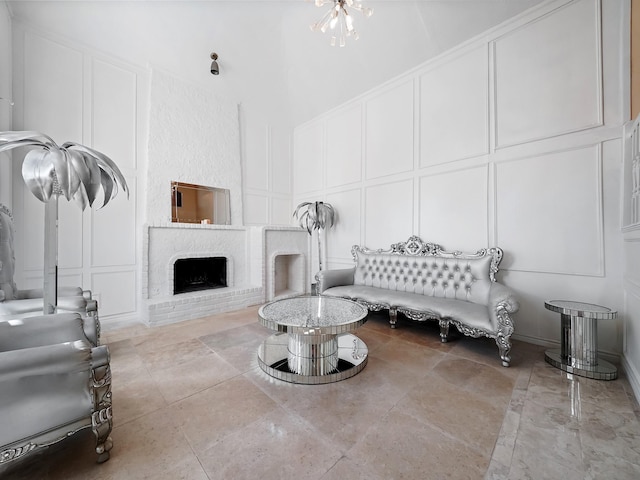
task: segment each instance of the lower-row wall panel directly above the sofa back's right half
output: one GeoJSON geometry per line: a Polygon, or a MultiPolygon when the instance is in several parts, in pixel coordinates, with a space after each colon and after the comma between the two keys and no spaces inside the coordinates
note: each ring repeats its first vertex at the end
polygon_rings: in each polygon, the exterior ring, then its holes
{"type": "MultiPolygon", "coordinates": [[[[447,250],[488,247],[487,166],[420,179],[420,236],[447,250]]],[[[498,245],[499,246],[499,245],[498,245]]]]}

